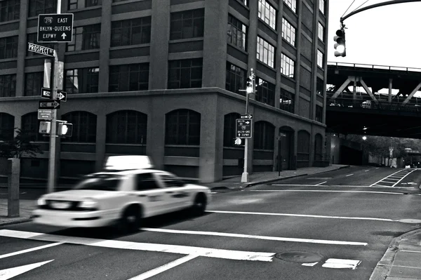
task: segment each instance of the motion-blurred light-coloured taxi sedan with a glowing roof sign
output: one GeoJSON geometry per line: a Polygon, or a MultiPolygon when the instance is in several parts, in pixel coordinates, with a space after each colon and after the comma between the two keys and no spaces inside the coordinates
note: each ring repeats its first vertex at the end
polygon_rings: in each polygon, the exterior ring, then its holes
{"type": "Polygon", "coordinates": [[[74,189],[41,196],[32,218],[43,225],[119,225],[133,232],[142,218],[185,208],[201,215],[209,202],[208,187],[153,169],[147,156],[112,156],[103,171],[86,175],[74,189]]]}

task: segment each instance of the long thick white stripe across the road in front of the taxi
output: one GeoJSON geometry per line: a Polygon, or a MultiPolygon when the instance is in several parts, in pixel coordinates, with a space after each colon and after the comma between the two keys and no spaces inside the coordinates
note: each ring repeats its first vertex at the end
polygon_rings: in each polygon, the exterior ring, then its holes
{"type": "Polygon", "coordinates": [[[22,239],[55,241],[68,244],[79,244],[105,248],[118,248],[138,251],[152,251],[161,253],[175,253],[184,255],[201,255],[209,258],[222,258],[228,260],[259,260],[261,262],[272,262],[275,253],[248,252],[224,249],[214,249],[194,246],[181,246],[169,244],[152,244],[132,241],[94,239],[86,237],[62,236],[55,234],[43,234],[40,232],[22,232],[11,229],[0,229],[0,236],[15,237],[22,239]]]}

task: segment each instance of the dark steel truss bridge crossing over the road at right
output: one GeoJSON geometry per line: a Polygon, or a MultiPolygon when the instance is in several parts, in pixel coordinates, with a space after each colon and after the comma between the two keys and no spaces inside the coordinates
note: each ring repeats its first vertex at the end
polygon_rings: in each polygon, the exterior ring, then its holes
{"type": "Polygon", "coordinates": [[[421,139],[421,69],[328,62],[326,84],[328,131],[421,139]]]}

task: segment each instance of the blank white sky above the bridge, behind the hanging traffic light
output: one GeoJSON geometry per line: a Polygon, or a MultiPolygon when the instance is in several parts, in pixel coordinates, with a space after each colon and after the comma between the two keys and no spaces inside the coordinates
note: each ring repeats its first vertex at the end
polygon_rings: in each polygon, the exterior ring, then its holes
{"type": "MultiPolygon", "coordinates": [[[[373,8],[344,21],[347,56],[336,58],[333,36],[340,18],[354,0],[330,0],[328,22],[328,62],[421,68],[421,1],[373,8]]],[[[389,1],[389,0],[387,0],[389,1]]],[[[355,0],[346,15],[366,0],[355,0]]],[[[368,0],[361,7],[385,0],[368,0]]]]}

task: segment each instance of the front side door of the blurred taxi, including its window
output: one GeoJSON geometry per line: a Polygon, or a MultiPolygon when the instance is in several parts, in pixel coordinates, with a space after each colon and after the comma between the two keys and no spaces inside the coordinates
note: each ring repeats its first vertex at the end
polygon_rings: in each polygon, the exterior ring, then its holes
{"type": "Polygon", "coordinates": [[[145,216],[160,215],[171,208],[171,199],[152,172],[135,174],[135,195],[144,206],[145,216]]]}

